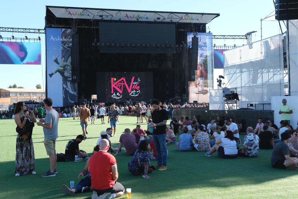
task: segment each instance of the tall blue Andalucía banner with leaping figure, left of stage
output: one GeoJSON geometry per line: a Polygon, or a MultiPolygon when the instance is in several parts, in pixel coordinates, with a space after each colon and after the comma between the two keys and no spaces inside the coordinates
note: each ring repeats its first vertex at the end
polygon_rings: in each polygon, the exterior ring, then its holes
{"type": "Polygon", "coordinates": [[[47,96],[53,106],[77,103],[77,83],[72,82],[72,29],[46,29],[47,96]]]}

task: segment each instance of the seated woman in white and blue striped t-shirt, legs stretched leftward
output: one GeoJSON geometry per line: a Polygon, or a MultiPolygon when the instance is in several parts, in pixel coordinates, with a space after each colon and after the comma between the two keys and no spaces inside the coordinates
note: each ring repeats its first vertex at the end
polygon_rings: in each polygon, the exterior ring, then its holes
{"type": "Polygon", "coordinates": [[[210,157],[215,151],[217,151],[222,158],[237,158],[238,150],[232,131],[226,131],[224,138],[217,140],[215,145],[212,146],[210,151],[205,155],[210,157]],[[224,144],[224,147],[220,145],[221,143],[224,144]]]}

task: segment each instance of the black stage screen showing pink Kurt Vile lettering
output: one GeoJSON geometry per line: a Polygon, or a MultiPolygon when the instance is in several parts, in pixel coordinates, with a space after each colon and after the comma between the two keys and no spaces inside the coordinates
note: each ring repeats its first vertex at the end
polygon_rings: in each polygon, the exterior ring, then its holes
{"type": "Polygon", "coordinates": [[[153,99],[152,72],[97,72],[100,102],[139,102],[153,99]]]}

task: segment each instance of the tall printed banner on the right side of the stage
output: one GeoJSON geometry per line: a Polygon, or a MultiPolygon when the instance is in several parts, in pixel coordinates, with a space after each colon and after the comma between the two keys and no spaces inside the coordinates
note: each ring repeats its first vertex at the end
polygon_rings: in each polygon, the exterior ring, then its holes
{"type": "MultiPolygon", "coordinates": [[[[187,33],[187,46],[192,47],[193,33],[187,33]]],[[[209,89],[213,89],[212,33],[197,33],[198,65],[195,81],[189,82],[189,102],[209,103],[209,89]]]]}

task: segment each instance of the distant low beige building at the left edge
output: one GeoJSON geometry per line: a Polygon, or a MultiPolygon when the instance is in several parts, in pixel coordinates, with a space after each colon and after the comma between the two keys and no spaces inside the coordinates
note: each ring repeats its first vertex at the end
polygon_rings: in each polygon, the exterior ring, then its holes
{"type": "Polygon", "coordinates": [[[19,101],[42,102],[45,92],[42,89],[0,88],[0,104],[13,104],[19,101]]]}

